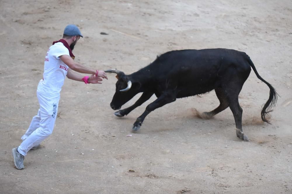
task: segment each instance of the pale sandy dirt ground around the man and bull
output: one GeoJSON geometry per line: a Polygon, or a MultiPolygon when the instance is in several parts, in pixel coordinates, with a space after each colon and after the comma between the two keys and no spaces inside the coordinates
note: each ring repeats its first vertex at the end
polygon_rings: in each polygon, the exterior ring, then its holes
{"type": "Polygon", "coordinates": [[[291,8],[291,0],[1,0],[0,193],[292,193],[291,8]],[[281,96],[272,124],[260,119],[269,88],[253,71],[239,95],[251,142],[237,138],[229,108],[211,120],[194,115],[218,106],[214,91],[153,111],[133,133],[154,96],[118,118],[109,106],[115,74],[99,85],[66,79],[53,134],[17,170],[11,149],[39,108],[46,51],[71,23],[84,35],[75,60],[99,70],[132,73],[177,49],[246,52],[281,96]]]}

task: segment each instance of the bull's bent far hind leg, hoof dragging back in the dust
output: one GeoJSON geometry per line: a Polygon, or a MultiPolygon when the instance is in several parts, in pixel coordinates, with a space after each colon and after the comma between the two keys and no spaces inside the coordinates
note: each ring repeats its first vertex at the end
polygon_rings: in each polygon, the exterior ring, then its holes
{"type": "Polygon", "coordinates": [[[222,88],[216,88],[215,92],[216,92],[216,95],[219,99],[220,104],[213,111],[202,113],[203,114],[203,115],[201,115],[202,118],[210,119],[214,115],[220,113],[221,111],[225,110],[229,106],[227,97],[226,97],[225,93],[223,92],[222,88]]]}

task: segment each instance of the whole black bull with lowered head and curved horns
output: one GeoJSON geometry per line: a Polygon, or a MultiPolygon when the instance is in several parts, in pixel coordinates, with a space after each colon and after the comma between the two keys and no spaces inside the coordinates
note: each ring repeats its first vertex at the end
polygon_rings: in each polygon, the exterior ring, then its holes
{"type": "Polygon", "coordinates": [[[203,94],[215,90],[220,105],[213,111],[204,112],[205,118],[211,118],[230,107],[236,125],[236,135],[248,141],[242,131],[242,108],[238,95],[248,78],[251,68],[258,79],[270,88],[270,96],[261,111],[261,118],[268,122],[267,113],[277,102],[277,92],[270,83],[257,72],[249,56],[240,51],[230,49],[203,49],[169,51],[150,65],[129,75],[119,70],[107,70],[117,74],[116,92],[110,103],[112,109],[120,109],[136,94],[143,92],[132,106],[115,112],[123,117],[134,108],[147,101],[153,94],[157,99],[150,103],[144,113],[137,118],[133,130],[140,128],[145,117],[156,108],[174,102],[177,98],[203,94]]]}

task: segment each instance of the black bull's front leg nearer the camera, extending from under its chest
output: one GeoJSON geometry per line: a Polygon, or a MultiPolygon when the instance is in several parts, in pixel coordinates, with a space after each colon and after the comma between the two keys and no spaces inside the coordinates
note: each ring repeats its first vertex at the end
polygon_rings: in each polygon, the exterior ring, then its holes
{"type": "Polygon", "coordinates": [[[171,92],[165,92],[162,94],[159,98],[157,98],[154,102],[150,103],[144,113],[137,118],[137,120],[134,123],[133,131],[137,131],[140,129],[142,122],[144,121],[145,117],[151,112],[154,111],[156,108],[159,108],[161,106],[164,106],[165,104],[174,102],[176,100],[175,92],[172,90],[171,92]]]}

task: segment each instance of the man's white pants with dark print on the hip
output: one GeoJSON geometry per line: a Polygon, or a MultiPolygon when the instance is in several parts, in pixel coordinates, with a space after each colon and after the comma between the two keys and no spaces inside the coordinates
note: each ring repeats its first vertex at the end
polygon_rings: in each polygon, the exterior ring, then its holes
{"type": "Polygon", "coordinates": [[[39,100],[39,111],[32,118],[29,128],[21,137],[23,142],[18,146],[18,152],[24,156],[32,147],[52,134],[58,113],[60,94],[53,97],[39,92],[36,94],[39,100]]]}

